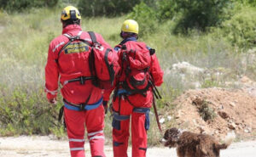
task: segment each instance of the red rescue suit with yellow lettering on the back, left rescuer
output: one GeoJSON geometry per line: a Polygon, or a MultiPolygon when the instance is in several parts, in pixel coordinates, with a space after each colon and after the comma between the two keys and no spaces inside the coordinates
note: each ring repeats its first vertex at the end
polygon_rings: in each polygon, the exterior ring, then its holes
{"type": "MultiPolygon", "coordinates": [[[[62,85],[61,94],[66,103],[64,108],[67,136],[69,139],[72,157],[84,157],[84,125],[87,128],[87,137],[90,141],[92,157],[105,157],[104,147],[104,108],[102,106],[102,89],[92,85],[90,80],[81,84],[79,81],[67,83],[67,81],[79,76],[90,76],[90,70],[84,64],[88,64],[86,53],[64,53],[59,51],[69,39],[67,36],[78,36],[90,41],[87,32],[82,32],[80,25],[67,25],[63,28],[62,35],[56,37],[49,44],[48,61],[45,66],[45,91],[47,98],[55,98],[57,95],[58,81],[62,85]],[[89,98],[90,96],[90,98],[89,98]],[[70,104],[83,104],[88,100],[88,105],[99,104],[96,109],[78,111],[70,104]],[[68,103],[67,103],[68,102],[68,103]],[[70,108],[69,108],[70,107],[70,108]]],[[[110,48],[101,35],[96,34],[97,42],[105,48],[110,48]]],[[[79,44],[78,44],[79,45],[79,44]]],[[[65,50],[65,49],[64,49],[65,50]]]]}

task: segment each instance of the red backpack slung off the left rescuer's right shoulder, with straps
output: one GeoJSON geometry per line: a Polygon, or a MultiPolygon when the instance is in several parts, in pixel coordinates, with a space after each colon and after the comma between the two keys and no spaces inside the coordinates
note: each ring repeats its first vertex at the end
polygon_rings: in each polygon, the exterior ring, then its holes
{"type": "Polygon", "coordinates": [[[67,48],[67,46],[71,43],[83,42],[86,44],[86,48],[84,48],[84,52],[90,53],[88,56],[88,64],[90,67],[90,75],[91,76],[80,76],[78,78],[74,78],[65,83],[80,81],[81,84],[84,84],[84,81],[91,80],[93,85],[99,87],[101,89],[109,89],[113,87],[114,77],[119,70],[118,64],[118,56],[116,52],[113,52],[110,48],[103,47],[99,42],[96,41],[96,36],[93,31],[88,31],[91,43],[84,39],[80,38],[82,31],[79,32],[78,36],[67,36],[69,42],[61,48],[59,54],[67,48]]]}

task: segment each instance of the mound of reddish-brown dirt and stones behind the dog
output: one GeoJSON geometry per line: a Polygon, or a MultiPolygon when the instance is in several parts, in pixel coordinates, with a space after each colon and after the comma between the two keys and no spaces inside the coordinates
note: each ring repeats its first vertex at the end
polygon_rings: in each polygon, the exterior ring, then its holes
{"type": "Polygon", "coordinates": [[[256,132],[256,97],[245,90],[207,88],[189,90],[178,97],[173,118],[192,132],[206,132],[219,139],[234,131],[238,137],[256,132]]]}

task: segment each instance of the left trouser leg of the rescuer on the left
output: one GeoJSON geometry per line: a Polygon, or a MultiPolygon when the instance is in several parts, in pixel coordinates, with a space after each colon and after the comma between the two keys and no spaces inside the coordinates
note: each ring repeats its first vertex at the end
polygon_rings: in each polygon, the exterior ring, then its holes
{"type": "Polygon", "coordinates": [[[85,157],[84,154],[84,112],[64,108],[67,137],[72,157],[85,157]]]}

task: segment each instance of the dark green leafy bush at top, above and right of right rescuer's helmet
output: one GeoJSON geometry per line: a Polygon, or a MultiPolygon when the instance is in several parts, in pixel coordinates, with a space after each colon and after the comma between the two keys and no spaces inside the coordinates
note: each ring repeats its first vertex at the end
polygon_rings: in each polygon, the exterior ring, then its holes
{"type": "MultiPolygon", "coordinates": [[[[139,4],[139,7],[135,6],[131,13],[132,17],[135,19],[148,18],[143,22],[151,22],[154,19],[152,16],[157,17],[159,23],[174,20],[176,25],[173,32],[187,34],[192,29],[207,31],[207,27],[220,25],[230,17],[232,2],[230,0],[161,0],[154,1],[154,3],[156,8],[147,8],[142,4],[139,4]],[[151,10],[150,16],[145,16],[149,9],[151,10]]],[[[151,26],[148,24],[148,27],[151,26]]]]}

